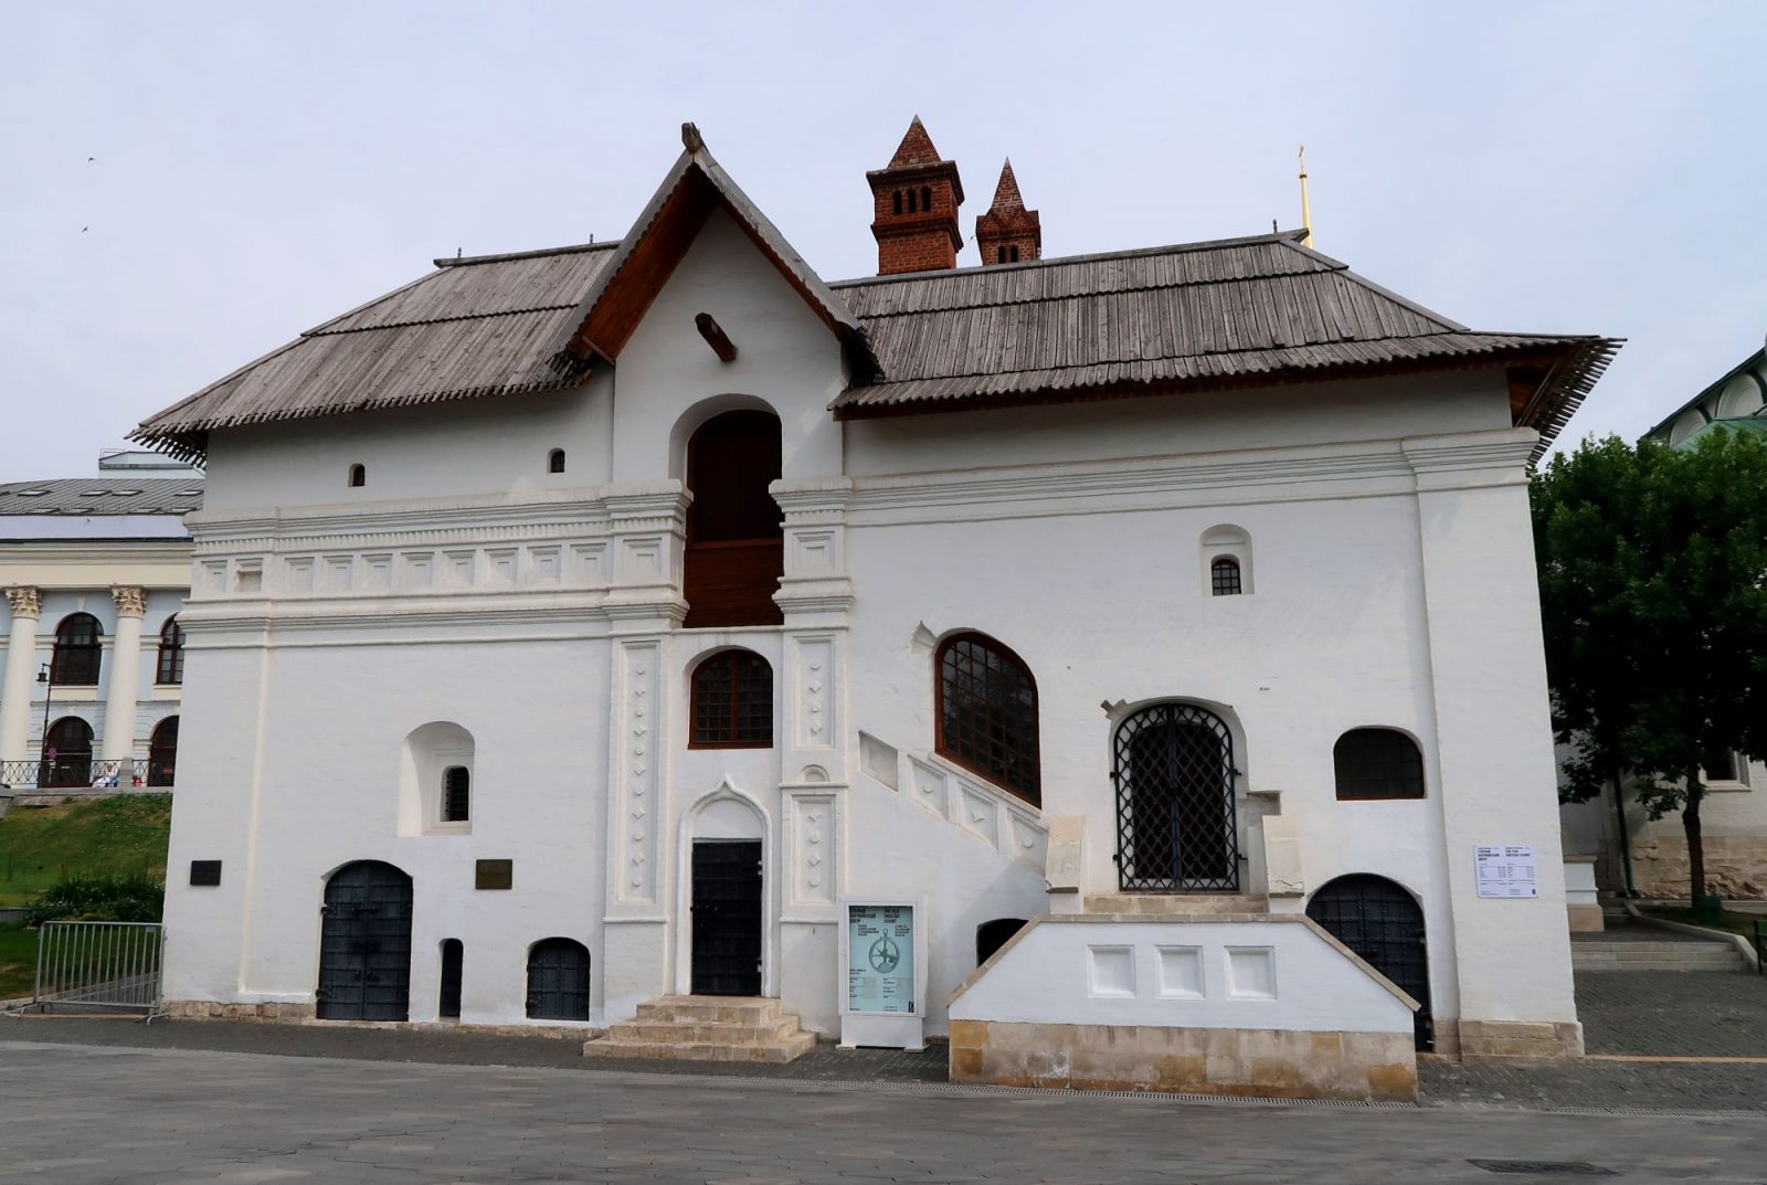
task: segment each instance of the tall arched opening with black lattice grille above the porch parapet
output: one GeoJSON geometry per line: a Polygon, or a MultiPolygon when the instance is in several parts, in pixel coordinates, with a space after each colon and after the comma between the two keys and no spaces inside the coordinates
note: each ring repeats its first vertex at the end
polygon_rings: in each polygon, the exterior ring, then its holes
{"type": "Polygon", "coordinates": [[[1233,735],[1156,703],[1117,728],[1117,878],[1126,892],[1239,892],[1233,735]]]}

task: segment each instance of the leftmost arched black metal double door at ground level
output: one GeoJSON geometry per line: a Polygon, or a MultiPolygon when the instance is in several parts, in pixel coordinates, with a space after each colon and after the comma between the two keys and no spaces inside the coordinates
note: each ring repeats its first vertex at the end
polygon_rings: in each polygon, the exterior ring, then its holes
{"type": "Polygon", "coordinates": [[[322,1021],[405,1021],[412,1007],[412,878],[378,860],[325,881],[322,1021]]]}

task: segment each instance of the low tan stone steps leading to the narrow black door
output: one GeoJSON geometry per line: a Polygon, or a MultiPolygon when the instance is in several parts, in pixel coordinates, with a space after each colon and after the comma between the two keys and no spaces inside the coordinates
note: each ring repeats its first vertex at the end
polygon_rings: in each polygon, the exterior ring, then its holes
{"type": "Polygon", "coordinates": [[[606,1037],[583,1042],[583,1056],[783,1065],[815,1045],[816,1035],[772,998],[659,996],[606,1037]]]}

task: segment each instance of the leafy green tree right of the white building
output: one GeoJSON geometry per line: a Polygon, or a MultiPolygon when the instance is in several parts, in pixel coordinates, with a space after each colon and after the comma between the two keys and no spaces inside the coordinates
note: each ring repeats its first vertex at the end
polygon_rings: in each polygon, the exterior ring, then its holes
{"type": "Polygon", "coordinates": [[[1767,442],[1585,440],[1532,494],[1564,798],[1629,772],[1652,819],[1679,809],[1698,904],[1703,766],[1767,756],[1767,442]]]}

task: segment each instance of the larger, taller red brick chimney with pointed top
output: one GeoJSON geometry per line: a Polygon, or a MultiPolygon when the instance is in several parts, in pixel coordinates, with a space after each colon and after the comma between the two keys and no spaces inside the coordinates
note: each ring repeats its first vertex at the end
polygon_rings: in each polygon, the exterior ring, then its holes
{"type": "Polygon", "coordinates": [[[875,207],[871,233],[878,240],[878,275],[958,265],[963,182],[958,162],[940,159],[919,115],[908,124],[908,134],[891,162],[866,173],[866,180],[875,207]]]}

